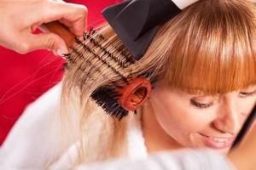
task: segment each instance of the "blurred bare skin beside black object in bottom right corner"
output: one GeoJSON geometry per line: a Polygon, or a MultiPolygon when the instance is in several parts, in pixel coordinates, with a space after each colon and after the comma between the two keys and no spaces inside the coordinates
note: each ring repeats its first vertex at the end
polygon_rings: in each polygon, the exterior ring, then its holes
{"type": "Polygon", "coordinates": [[[256,167],[256,122],[253,124],[254,126],[247,132],[241,144],[236,149],[231,150],[228,155],[230,161],[239,170],[250,170],[256,167]]]}

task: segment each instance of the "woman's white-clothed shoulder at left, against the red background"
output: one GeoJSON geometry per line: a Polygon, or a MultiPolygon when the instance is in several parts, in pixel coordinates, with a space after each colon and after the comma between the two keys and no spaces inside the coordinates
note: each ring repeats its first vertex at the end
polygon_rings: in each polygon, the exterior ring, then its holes
{"type": "Polygon", "coordinates": [[[28,105],[0,149],[0,160],[6,166],[37,168],[52,158],[53,150],[58,150],[60,101],[61,82],[28,105]]]}

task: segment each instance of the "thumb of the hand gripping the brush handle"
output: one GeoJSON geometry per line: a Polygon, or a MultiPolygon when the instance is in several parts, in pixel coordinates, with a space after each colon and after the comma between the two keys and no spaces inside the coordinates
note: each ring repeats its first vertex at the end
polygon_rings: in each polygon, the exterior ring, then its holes
{"type": "Polygon", "coordinates": [[[32,34],[28,37],[27,42],[30,44],[29,51],[48,49],[55,55],[60,56],[68,53],[66,42],[60,36],[52,32],[32,34]]]}

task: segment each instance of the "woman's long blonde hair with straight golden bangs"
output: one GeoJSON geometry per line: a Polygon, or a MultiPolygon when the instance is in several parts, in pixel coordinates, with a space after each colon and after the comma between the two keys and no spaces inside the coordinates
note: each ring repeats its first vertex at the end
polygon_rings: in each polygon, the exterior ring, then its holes
{"type": "MultiPolygon", "coordinates": [[[[255,27],[256,10],[252,2],[199,1],[160,26],[143,59],[125,68],[106,57],[90,40],[85,40],[83,43],[93,51],[80,45],[77,49],[81,53],[72,54],[67,62],[62,92],[64,110],[70,105],[78,108],[65,115],[79,120],[78,139],[91,138],[92,141],[81,143],[78,162],[127,154],[127,122],[133,116],[119,122],[90,99],[96,88],[120,79],[109,65],[124,77],[153,71],[150,76],[159,77],[170,88],[189,93],[201,90],[206,94],[225,94],[256,82],[255,27]],[[95,54],[105,57],[108,65],[102,64],[95,54]]],[[[122,57],[116,48],[125,47],[111,27],[102,26],[93,37],[98,39],[100,34],[106,38],[102,46],[116,59],[122,57]]],[[[66,121],[69,122],[69,118],[66,121]]],[[[67,123],[67,127],[71,126],[67,123]]]]}

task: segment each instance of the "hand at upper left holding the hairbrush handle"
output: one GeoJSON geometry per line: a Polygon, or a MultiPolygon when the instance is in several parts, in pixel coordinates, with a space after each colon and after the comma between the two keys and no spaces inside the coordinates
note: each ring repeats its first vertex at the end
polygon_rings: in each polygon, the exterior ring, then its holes
{"type": "Polygon", "coordinates": [[[43,48],[54,54],[67,54],[67,45],[58,35],[33,32],[44,23],[59,20],[74,35],[82,36],[86,16],[87,8],[83,5],[61,0],[1,0],[0,45],[20,54],[43,48]]]}

